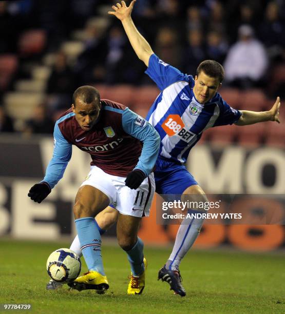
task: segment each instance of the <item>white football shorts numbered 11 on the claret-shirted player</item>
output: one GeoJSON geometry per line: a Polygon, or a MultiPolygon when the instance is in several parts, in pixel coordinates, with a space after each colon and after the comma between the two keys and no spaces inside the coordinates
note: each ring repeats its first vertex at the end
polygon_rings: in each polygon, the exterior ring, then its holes
{"type": "Polygon", "coordinates": [[[97,166],[91,166],[81,186],[91,185],[104,194],[120,213],[134,217],[149,216],[151,201],[155,193],[155,178],[151,172],[136,190],[125,185],[126,178],[111,175],[97,166]]]}

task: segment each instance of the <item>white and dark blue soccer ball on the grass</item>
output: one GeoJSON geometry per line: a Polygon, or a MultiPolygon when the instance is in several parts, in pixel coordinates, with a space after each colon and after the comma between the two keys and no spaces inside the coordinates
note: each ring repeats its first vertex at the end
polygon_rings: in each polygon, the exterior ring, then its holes
{"type": "Polygon", "coordinates": [[[55,250],[47,259],[47,272],[55,281],[71,282],[78,277],[80,271],[80,258],[70,249],[55,250]]]}

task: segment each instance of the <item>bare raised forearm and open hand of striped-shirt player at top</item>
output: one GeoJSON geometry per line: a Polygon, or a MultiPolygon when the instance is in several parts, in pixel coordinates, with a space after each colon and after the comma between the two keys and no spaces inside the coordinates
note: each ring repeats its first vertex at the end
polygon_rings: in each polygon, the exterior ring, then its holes
{"type": "Polygon", "coordinates": [[[112,6],[114,11],[109,11],[108,14],[115,15],[120,19],[132,48],[134,48],[139,59],[142,60],[148,67],[149,57],[154,52],[145,38],[139,33],[134,22],[132,22],[130,14],[132,8],[134,8],[135,2],[136,0],[132,0],[130,5],[127,7],[125,2],[121,1],[121,4],[117,3],[116,6],[112,6]]]}

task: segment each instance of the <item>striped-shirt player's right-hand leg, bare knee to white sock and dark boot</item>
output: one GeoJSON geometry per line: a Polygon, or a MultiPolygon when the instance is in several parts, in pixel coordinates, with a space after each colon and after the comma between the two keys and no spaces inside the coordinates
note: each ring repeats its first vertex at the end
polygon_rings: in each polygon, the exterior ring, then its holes
{"type": "MultiPolygon", "coordinates": [[[[185,189],[181,201],[186,202],[207,202],[205,192],[199,185],[192,185],[185,189]]],[[[191,210],[191,209],[189,209],[191,210]]],[[[188,210],[188,212],[189,212],[188,210]]],[[[203,210],[199,209],[200,212],[203,210]]],[[[170,289],[184,297],[185,289],[182,286],[179,265],[187,251],[192,247],[203,224],[203,219],[184,219],[178,229],[173,251],[166,264],[159,270],[158,279],[166,281],[170,289]]]]}

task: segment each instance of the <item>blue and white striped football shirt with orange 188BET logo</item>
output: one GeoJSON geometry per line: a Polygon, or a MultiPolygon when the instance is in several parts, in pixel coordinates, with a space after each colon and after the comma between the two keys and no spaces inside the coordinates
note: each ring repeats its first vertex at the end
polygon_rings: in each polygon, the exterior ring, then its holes
{"type": "Polygon", "coordinates": [[[156,54],[150,56],[145,73],[161,90],[146,120],[160,135],[159,156],[169,161],[185,163],[203,131],[233,124],[241,116],[219,93],[206,104],[200,104],[193,92],[193,76],[164,63],[156,54]]]}

